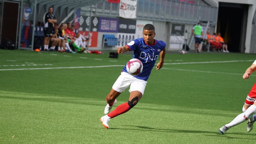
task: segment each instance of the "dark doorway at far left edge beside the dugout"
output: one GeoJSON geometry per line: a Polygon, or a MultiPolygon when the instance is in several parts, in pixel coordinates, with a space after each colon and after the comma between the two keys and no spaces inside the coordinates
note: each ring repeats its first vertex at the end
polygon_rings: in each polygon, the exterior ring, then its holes
{"type": "Polygon", "coordinates": [[[19,3],[4,1],[1,43],[3,43],[6,38],[17,42],[18,18],[19,3]]]}

